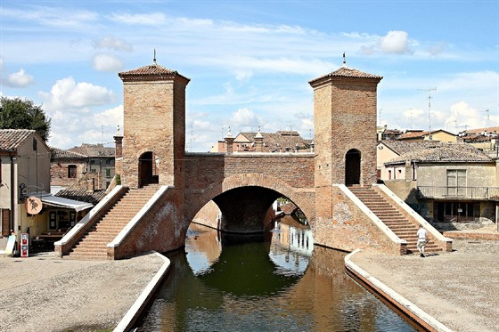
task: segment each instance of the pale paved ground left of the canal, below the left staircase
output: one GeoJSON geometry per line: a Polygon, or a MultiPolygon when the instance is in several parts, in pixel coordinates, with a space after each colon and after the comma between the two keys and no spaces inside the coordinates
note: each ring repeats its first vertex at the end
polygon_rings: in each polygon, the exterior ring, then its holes
{"type": "Polygon", "coordinates": [[[112,330],[165,261],[0,256],[0,331],[112,330]]]}

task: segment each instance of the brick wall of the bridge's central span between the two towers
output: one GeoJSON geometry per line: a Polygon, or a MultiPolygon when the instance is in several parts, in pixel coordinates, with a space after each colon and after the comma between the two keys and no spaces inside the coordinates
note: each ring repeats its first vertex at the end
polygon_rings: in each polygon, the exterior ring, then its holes
{"type": "Polygon", "coordinates": [[[260,186],[290,198],[314,218],[314,154],[202,154],[185,156],[186,218],[226,190],[260,186]]]}

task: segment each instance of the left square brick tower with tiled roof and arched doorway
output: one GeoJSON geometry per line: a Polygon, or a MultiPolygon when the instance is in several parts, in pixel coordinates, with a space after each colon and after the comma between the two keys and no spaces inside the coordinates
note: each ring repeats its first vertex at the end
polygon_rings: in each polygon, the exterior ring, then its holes
{"type": "Polygon", "coordinates": [[[120,72],[124,90],[121,182],[184,186],[185,87],[189,78],[156,63],[120,72]]]}

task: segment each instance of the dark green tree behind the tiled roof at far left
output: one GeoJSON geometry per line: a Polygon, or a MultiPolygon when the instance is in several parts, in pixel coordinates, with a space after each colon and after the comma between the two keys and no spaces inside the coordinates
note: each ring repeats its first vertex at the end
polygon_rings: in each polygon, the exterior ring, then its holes
{"type": "Polygon", "coordinates": [[[33,129],[46,142],[50,136],[51,119],[41,105],[29,99],[0,98],[0,129],[33,129]]]}

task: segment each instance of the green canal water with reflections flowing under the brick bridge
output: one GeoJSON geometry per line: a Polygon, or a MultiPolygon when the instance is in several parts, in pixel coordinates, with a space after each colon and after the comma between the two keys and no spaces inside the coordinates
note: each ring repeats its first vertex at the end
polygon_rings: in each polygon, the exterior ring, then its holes
{"type": "Polygon", "coordinates": [[[300,223],[259,239],[192,224],[137,331],[417,331],[345,273],[300,223]]]}

